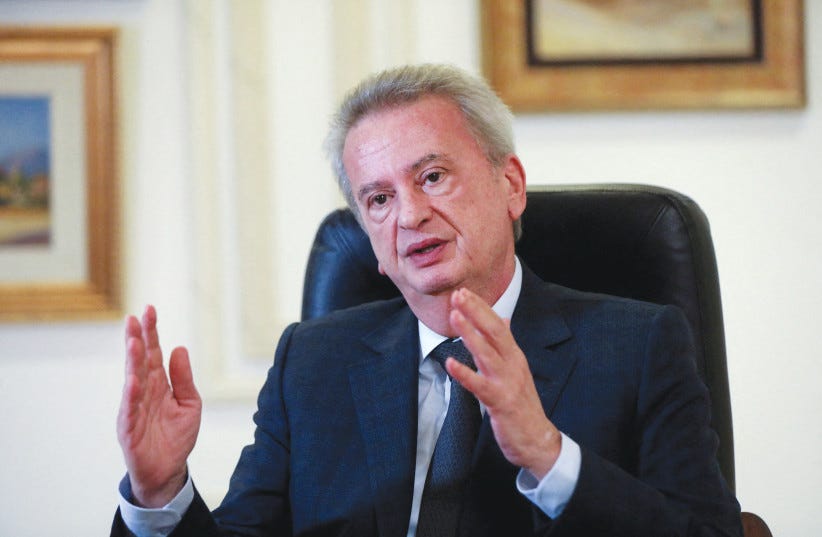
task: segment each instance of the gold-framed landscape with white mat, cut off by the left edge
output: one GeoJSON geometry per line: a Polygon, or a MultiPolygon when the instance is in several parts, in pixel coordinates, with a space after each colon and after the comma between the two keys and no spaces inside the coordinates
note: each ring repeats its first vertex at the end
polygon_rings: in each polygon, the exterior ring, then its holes
{"type": "Polygon", "coordinates": [[[115,46],[0,27],[0,319],[120,314],[115,46]]]}

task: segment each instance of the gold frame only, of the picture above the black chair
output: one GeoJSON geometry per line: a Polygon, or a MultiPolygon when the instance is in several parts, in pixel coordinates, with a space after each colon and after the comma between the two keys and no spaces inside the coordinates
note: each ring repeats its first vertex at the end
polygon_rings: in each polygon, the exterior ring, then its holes
{"type": "MultiPolygon", "coordinates": [[[[542,64],[534,61],[534,47],[529,45],[534,40],[532,12],[537,1],[482,2],[483,71],[514,111],[798,108],[805,104],[802,0],[751,0],[758,48],[747,59],[589,58],[542,64]]],[[[547,1],[566,7],[578,4],[588,11],[619,4],[619,0],[547,1]]],[[[637,5],[643,4],[633,3],[637,5]]]]}

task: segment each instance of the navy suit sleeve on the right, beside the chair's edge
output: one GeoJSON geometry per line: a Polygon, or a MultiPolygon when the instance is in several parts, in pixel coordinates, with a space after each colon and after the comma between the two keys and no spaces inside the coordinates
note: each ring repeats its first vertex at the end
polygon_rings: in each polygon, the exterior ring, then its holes
{"type": "Polygon", "coordinates": [[[636,475],[582,448],[576,489],[545,535],[741,536],[739,505],[716,462],[710,402],[676,308],[653,319],[638,379],[636,475]]]}

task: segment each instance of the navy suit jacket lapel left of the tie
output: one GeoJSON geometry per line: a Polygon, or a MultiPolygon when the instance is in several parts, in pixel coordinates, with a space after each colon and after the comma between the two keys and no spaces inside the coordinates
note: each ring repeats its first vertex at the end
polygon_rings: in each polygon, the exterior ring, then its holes
{"type": "Polygon", "coordinates": [[[365,444],[379,534],[404,536],[417,449],[419,336],[409,308],[363,338],[372,351],[348,368],[365,444]]]}

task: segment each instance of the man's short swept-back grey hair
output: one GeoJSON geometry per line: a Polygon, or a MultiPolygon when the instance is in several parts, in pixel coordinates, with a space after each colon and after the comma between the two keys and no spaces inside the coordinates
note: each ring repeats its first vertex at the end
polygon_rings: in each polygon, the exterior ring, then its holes
{"type": "MultiPolygon", "coordinates": [[[[445,97],[462,112],[468,129],[493,166],[501,166],[514,153],[513,115],[482,78],[451,65],[421,64],[376,73],[351,90],[331,121],[325,150],[348,206],[361,221],[351,183],[343,166],[343,148],[348,132],[364,117],[428,96],[445,97]]],[[[514,236],[521,234],[520,222],[514,236]]]]}

